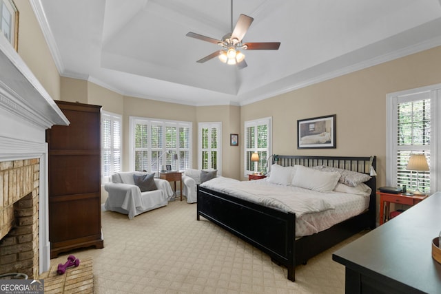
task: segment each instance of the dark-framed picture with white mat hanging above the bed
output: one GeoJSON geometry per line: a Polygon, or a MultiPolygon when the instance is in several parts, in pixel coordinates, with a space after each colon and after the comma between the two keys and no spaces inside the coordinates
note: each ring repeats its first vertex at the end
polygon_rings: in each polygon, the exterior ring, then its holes
{"type": "Polygon", "coordinates": [[[297,120],[297,148],[336,148],[336,114],[297,120]]]}

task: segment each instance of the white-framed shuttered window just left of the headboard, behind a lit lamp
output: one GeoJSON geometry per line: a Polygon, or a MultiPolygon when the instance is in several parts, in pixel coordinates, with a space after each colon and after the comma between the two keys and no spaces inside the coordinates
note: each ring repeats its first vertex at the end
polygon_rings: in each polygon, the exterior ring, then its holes
{"type": "Polygon", "coordinates": [[[271,118],[261,118],[245,122],[245,176],[255,171],[266,173],[265,163],[271,155],[271,118]],[[259,155],[258,162],[252,162],[254,152],[259,155]]]}

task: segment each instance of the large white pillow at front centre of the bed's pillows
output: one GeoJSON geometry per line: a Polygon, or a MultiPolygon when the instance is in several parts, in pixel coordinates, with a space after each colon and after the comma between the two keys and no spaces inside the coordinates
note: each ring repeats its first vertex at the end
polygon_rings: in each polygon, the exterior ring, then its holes
{"type": "Polygon", "coordinates": [[[292,185],[318,192],[330,192],[337,185],[338,171],[319,171],[299,165],[292,179],[292,185]]]}

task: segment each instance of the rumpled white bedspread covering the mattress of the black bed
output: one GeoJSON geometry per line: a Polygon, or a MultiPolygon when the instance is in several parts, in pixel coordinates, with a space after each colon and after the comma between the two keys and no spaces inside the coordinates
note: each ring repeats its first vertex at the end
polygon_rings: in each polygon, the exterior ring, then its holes
{"type": "Polygon", "coordinates": [[[202,187],[221,191],[280,211],[296,213],[296,237],[311,235],[356,216],[369,207],[369,196],[321,193],[264,180],[238,181],[218,177],[202,187]]]}

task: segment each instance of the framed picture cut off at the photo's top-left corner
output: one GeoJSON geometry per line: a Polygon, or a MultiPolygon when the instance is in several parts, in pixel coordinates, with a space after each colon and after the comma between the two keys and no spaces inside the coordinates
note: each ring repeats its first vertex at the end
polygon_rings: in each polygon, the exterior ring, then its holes
{"type": "Polygon", "coordinates": [[[0,33],[19,50],[19,10],[12,0],[0,0],[0,33]]]}

